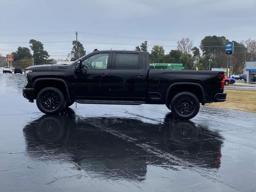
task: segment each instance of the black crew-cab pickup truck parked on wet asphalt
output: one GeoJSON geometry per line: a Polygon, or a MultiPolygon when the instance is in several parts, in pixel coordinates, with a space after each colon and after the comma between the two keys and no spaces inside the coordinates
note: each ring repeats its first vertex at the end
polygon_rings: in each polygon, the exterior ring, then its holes
{"type": "Polygon", "coordinates": [[[26,68],[23,96],[45,114],[82,104],[165,104],[173,115],[191,119],[200,103],[223,102],[224,72],[150,70],[148,52],[98,51],[72,64],[26,68]]]}

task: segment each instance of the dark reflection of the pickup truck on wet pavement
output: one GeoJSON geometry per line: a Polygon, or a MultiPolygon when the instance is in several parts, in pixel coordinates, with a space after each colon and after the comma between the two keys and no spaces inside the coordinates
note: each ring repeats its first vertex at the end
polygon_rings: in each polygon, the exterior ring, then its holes
{"type": "Polygon", "coordinates": [[[190,121],[166,115],[164,124],[129,118],[44,115],[25,126],[26,154],[42,161],[74,161],[105,178],[144,180],[147,165],[181,164],[219,168],[221,136],[190,121]]]}

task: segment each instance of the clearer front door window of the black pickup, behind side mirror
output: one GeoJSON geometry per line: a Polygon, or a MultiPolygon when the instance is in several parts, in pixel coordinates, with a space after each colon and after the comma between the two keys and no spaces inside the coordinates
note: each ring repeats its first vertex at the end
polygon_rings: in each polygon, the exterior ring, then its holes
{"type": "Polygon", "coordinates": [[[108,53],[100,53],[83,60],[82,69],[106,69],[108,67],[108,53]]]}

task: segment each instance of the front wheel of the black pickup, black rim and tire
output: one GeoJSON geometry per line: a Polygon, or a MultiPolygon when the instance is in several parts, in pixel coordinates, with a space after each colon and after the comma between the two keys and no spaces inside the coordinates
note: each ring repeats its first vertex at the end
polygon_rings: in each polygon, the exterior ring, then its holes
{"type": "Polygon", "coordinates": [[[55,87],[46,87],[36,96],[38,109],[45,114],[59,114],[65,106],[63,93],[55,87]]]}

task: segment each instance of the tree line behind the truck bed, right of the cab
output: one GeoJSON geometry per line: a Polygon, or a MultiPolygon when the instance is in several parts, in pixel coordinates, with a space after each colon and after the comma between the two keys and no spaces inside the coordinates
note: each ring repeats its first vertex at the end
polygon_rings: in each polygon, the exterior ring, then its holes
{"type": "MultiPolygon", "coordinates": [[[[177,42],[177,48],[167,54],[163,46],[154,45],[150,52],[150,63],[182,63],[186,70],[195,70],[196,66],[198,70],[209,70],[209,59],[211,59],[210,68],[226,68],[225,43],[227,42],[230,40],[224,36],[206,36],[201,40],[198,48],[193,47],[193,42],[189,38],[182,38],[177,42]]],[[[245,61],[256,61],[256,41],[248,39],[231,42],[234,42],[231,64],[233,73],[241,73],[245,61]]],[[[147,43],[145,41],[140,46],[136,46],[135,50],[148,51],[147,43]]]]}

